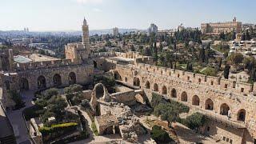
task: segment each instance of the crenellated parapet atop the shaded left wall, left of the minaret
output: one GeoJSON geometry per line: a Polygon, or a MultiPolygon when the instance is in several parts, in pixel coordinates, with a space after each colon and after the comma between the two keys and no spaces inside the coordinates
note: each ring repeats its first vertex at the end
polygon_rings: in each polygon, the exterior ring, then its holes
{"type": "Polygon", "coordinates": [[[72,62],[70,59],[61,59],[44,62],[29,62],[29,63],[16,63],[15,68],[17,70],[34,70],[34,69],[46,69],[60,66],[74,66],[78,65],[78,62],[72,62]]]}

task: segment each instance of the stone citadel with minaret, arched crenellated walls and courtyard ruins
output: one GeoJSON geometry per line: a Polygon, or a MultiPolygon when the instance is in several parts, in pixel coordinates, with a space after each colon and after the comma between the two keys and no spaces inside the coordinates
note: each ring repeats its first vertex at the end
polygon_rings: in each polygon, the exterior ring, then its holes
{"type": "MultiPolygon", "coordinates": [[[[159,94],[162,98],[189,106],[189,114],[198,112],[205,115],[207,122],[200,133],[215,139],[216,142],[255,143],[254,84],[154,66],[152,57],[143,56],[138,52],[92,53],[86,19],[82,25],[82,42],[67,44],[65,55],[66,59],[58,59],[34,54],[26,59],[14,56],[13,50],[2,50],[2,111],[10,110],[14,106],[14,102],[8,97],[8,90],[38,91],[73,84],[87,85],[93,81],[94,75],[108,73],[116,82],[122,84],[121,92],[109,94],[102,84],[95,85],[94,90],[84,92],[93,111],[100,105],[100,114],[95,117],[99,134],[112,130],[114,126],[121,130],[123,139],[129,142],[138,140],[139,131],[142,130],[138,126],[138,119],[132,116],[129,106],[135,101],[149,103],[152,94],[159,94]],[[126,114],[130,125],[119,124],[118,110],[126,110],[123,114],[126,114]],[[228,113],[230,118],[227,117],[228,113]],[[131,134],[132,131],[135,131],[135,134],[131,134]]],[[[6,121],[6,126],[3,127],[8,129],[9,120],[5,112],[2,115],[2,121],[6,121]]],[[[0,136],[1,134],[2,131],[0,136]]],[[[5,138],[12,136],[6,135],[5,138]]]]}

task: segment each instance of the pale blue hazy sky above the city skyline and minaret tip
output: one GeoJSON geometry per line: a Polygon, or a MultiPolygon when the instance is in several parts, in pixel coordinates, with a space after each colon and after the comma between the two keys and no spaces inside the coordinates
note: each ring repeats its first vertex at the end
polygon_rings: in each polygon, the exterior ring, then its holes
{"type": "Polygon", "coordinates": [[[200,27],[202,22],[256,23],[256,0],[0,0],[0,30],[159,30],[200,27]]]}

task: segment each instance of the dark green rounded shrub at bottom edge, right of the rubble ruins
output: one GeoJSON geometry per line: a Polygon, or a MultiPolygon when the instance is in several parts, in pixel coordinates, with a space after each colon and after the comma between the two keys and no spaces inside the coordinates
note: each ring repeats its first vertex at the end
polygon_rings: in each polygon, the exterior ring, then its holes
{"type": "Polygon", "coordinates": [[[174,140],[170,138],[169,134],[165,130],[162,130],[160,126],[153,126],[150,132],[150,137],[157,143],[174,142],[174,140]]]}

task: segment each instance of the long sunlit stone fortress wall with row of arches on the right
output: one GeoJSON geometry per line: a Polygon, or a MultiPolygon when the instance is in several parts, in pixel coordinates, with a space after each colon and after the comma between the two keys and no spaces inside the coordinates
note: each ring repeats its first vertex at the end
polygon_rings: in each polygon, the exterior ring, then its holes
{"type": "Polygon", "coordinates": [[[152,92],[182,102],[193,110],[200,110],[213,117],[204,132],[229,139],[233,143],[253,143],[256,138],[255,86],[246,82],[235,82],[224,78],[194,74],[153,66],[149,57],[136,53],[117,53],[122,58],[134,58],[135,64],[116,65],[113,70],[118,80],[129,86],[139,86],[151,99],[152,92]],[[226,117],[231,111],[231,119],[226,117]],[[244,117],[244,118],[242,118],[244,117]],[[217,122],[218,120],[218,122],[217,122]],[[229,128],[226,128],[228,126],[229,128]],[[206,129],[210,129],[206,131],[206,129]]]}

